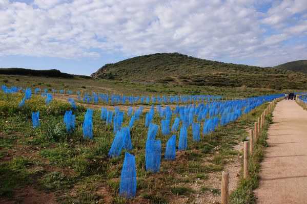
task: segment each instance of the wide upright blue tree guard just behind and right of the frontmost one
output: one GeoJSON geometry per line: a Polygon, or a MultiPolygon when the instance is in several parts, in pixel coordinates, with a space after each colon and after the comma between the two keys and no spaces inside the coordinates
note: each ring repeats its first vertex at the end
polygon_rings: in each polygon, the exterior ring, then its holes
{"type": "Polygon", "coordinates": [[[147,140],[145,149],[146,171],[158,172],[161,161],[161,141],[147,140]]]}

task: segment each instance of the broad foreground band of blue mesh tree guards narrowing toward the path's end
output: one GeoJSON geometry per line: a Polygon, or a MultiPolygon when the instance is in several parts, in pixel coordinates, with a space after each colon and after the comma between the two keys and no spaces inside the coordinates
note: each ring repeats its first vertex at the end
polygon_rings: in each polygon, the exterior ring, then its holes
{"type": "MultiPolygon", "coordinates": [[[[161,105],[152,105],[151,109],[146,113],[146,120],[144,123],[145,127],[148,127],[145,151],[146,170],[158,172],[160,168],[161,141],[155,139],[159,125],[152,123],[155,114],[161,119],[161,133],[166,137],[168,137],[171,132],[176,132],[181,123],[178,145],[176,146],[176,134],[173,134],[167,141],[165,149],[165,160],[174,161],[176,159],[176,149],[182,151],[187,149],[188,128],[192,127],[193,140],[199,142],[201,126],[202,134],[209,134],[210,132],[214,132],[218,126],[224,126],[236,120],[242,114],[247,114],[265,101],[272,101],[281,96],[282,95],[271,95],[234,101],[213,101],[211,103],[199,103],[197,105],[177,105],[173,110],[169,106],[162,107],[161,105]],[[175,117],[175,120],[171,126],[170,121],[172,116],[175,117]]],[[[72,104],[72,99],[69,99],[69,102],[72,104]]],[[[73,105],[72,109],[74,109],[73,105]]],[[[133,109],[129,107],[127,113],[120,111],[119,107],[114,107],[114,111],[108,110],[106,107],[101,108],[101,120],[105,120],[106,124],[110,125],[113,123],[113,132],[115,134],[112,146],[108,153],[109,157],[118,157],[122,149],[127,151],[133,149],[130,127],[133,126],[135,120],[139,120],[142,110],[142,106],[134,110],[134,112],[133,109]],[[126,120],[130,120],[129,126],[121,127],[125,118],[126,120]]],[[[93,110],[88,108],[83,123],[83,134],[85,138],[89,139],[93,138],[92,115],[93,110]]],[[[36,116],[33,116],[34,121],[36,116]]],[[[74,120],[75,117],[72,115],[72,110],[67,111],[64,116],[64,122],[67,125],[67,132],[73,131],[74,120]]],[[[119,194],[127,198],[134,197],[136,194],[135,159],[134,155],[129,152],[125,153],[125,161],[120,178],[119,194]]]]}

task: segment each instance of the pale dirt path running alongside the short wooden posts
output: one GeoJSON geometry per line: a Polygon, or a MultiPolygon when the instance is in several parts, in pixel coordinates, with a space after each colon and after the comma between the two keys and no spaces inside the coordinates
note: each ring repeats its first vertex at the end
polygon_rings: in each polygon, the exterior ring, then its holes
{"type": "Polygon", "coordinates": [[[283,100],[273,116],[257,203],[307,203],[307,111],[283,100]]]}

